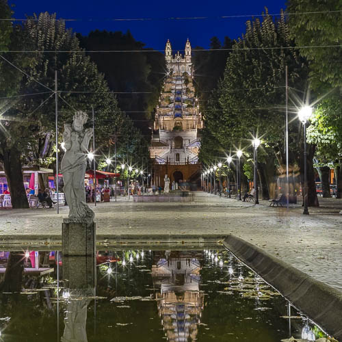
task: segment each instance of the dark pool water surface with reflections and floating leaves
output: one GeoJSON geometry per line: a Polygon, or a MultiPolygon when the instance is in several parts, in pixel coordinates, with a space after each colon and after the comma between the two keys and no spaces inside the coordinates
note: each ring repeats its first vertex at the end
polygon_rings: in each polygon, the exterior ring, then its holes
{"type": "Polygon", "coordinates": [[[220,247],[68,258],[0,252],[0,281],[0,341],[274,342],[322,334],[220,247]]]}

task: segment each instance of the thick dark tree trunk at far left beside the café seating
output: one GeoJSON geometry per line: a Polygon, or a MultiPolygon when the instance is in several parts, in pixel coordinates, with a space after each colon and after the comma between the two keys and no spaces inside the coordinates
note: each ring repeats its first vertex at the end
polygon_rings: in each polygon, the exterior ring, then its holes
{"type": "Polygon", "coordinates": [[[15,146],[3,150],[3,168],[10,188],[12,208],[29,208],[23,182],[21,153],[15,146]]]}

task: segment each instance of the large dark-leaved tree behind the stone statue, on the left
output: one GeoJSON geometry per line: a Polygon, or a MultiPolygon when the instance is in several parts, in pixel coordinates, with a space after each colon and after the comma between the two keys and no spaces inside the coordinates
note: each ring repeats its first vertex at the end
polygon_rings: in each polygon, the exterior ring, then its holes
{"type": "MultiPolygon", "coordinates": [[[[109,94],[103,74],[90,60],[64,21],[55,14],[40,14],[29,18],[25,25],[14,27],[9,50],[38,51],[35,53],[5,53],[13,65],[2,62],[6,82],[1,82],[1,97],[27,95],[5,100],[5,114],[0,131],[0,160],[10,186],[14,208],[27,207],[23,187],[23,163],[49,166],[53,161],[55,140],[55,103],[49,96],[58,75],[59,129],[72,120],[75,110],[96,112],[96,146],[109,145],[112,127],[127,124],[118,110],[116,98],[109,94]],[[55,51],[70,51],[58,53],[55,51]],[[40,94],[45,92],[46,94],[40,94]],[[29,95],[34,94],[34,95],[29,95]]],[[[89,122],[92,124],[92,122],[89,122]]]]}

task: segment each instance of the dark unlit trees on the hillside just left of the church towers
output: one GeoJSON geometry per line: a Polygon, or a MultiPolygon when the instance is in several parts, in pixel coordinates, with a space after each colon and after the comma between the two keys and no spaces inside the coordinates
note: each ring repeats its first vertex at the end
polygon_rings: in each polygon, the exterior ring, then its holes
{"type": "Polygon", "coordinates": [[[105,75],[109,88],[118,94],[122,111],[135,121],[135,125],[148,133],[144,120],[153,117],[158,103],[163,77],[166,72],[163,54],[145,49],[130,31],[91,31],[88,36],[77,37],[87,51],[133,51],[122,53],[89,53],[98,70],[105,75]]]}

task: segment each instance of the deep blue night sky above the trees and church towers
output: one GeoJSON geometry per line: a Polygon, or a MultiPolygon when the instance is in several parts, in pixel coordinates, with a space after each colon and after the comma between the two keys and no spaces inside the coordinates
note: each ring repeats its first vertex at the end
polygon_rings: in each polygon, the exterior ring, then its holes
{"type": "MultiPolygon", "coordinates": [[[[127,31],[146,47],[163,50],[169,38],[172,49],[184,49],[189,38],[192,47],[209,47],[210,38],[237,38],[245,31],[249,18],[218,18],[220,16],[261,14],[265,6],[269,13],[285,9],[286,0],[8,0],[14,4],[14,17],[25,18],[40,12],[56,12],[57,18],[77,18],[67,23],[74,31],[88,34],[94,29],[127,31]],[[208,19],[165,20],[170,17],[206,16],[208,19]],[[111,21],[110,18],[155,18],[152,21],[111,21]],[[92,19],[89,21],[88,19],[92,19]]],[[[252,17],[250,17],[252,18],[252,17]]]]}

